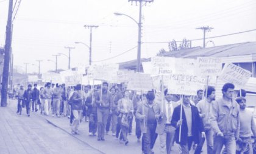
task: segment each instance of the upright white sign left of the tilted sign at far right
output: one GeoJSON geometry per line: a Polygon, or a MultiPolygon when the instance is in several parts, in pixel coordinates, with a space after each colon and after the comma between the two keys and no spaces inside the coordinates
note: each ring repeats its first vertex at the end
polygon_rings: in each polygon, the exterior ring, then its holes
{"type": "Polygon", "coordinates": [[[201,76],[218,76],[222,71],[221,58],[197,57],[196,74],[201,76]]]}

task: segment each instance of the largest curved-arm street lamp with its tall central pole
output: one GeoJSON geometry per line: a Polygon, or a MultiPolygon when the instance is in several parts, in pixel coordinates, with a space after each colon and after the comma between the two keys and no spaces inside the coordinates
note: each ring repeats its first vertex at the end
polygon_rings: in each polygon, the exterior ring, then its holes
{"type": "MultiPolygon", "coordinates": [[[[141,5],[141,2],[140,2],[141,5]]],[[[140,55],[141,55],[141,7],[140,7],[140,18],[139,22],[137,22],[135,19],[133,19],[131,16],[126,15],[124,13],[118,13],[115,12],[114,15],[117,16],[127,16],[128,18],[132,19],[137,25],[138,25],[138,51],[137,51],[137,66],[136,66],[136,71],[140,72],[140,55]]]]}

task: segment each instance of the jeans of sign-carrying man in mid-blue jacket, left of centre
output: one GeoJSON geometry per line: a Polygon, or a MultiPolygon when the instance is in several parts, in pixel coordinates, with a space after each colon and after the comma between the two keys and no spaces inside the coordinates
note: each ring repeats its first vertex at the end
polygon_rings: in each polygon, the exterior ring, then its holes
{"type": "Polygon", "coordinates": [[[98,108],[97,109],[98,139],[104,139],[105,127],[107,125],[108,114],[109,114],[108,108],[98,108]]]}

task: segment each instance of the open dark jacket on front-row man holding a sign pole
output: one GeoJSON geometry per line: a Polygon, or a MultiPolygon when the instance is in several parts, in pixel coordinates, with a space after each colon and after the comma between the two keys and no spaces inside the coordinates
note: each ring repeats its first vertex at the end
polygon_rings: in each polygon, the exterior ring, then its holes
{"type": "MultiPolygon", "coordinates": [[[[198,143],[199,142],[199,133],[202,133],[204,131],[204,124],[202,122],[201,117],[199,116],[199,111],[197,110],[197,107],[194,105],[191,105],[191,113],[192,113],[192,135],[193,135],[193,141],[198,143]]],[[[180,120],[180,105],[176,108],[174,108],[172,119],[171,119],[171,125],[173,127],[177,127],[177,122],[180,120]]],[[[182,133],[181,138],[179,142],[179,131],[180,128],[176,128],[175,132],[175,138],[176,142],[182,145],[187,144],[188,142],[188,125],[187,125],[187,119],[185,116],[185,111],[182,108],[182,133]]]]}

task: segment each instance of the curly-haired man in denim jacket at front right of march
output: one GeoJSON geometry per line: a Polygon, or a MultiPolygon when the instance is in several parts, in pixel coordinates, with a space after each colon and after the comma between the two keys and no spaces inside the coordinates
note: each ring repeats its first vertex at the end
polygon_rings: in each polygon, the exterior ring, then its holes
{"type": "Polygon", "coordinates": [[[235,86],[226,83],[222,87],[222,98],[212,103],[210,122],[213,136],[213,153],[221,153],[225,145],[227,153],[236,152],[236,140],[239,139],[240,114],[238,103],[233,100],[235,86]]]}

